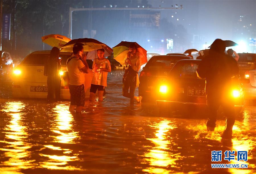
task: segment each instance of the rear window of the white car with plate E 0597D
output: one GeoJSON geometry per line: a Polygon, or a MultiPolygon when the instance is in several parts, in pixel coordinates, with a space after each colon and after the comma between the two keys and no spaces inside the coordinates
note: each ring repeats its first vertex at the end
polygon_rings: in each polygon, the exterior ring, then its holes
{"type": "MultiPolygon", "coordinates": [[[[23,64],[27,65],[44,65],[45,60],[49,57],[49,54],[30,54],[23,64]]],[[[67,59],[70,55],[59,55],[61,57],[61,65],[66,65],[67,59]]]]}

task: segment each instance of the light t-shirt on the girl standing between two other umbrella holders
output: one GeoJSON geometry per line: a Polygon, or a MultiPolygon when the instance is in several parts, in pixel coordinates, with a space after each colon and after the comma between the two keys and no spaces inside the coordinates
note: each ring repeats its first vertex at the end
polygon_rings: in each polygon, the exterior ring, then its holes
{"type": "MultiPolygon", "coordinates": [[[[110,62],[106,58],[103,60],[94,59],[92,63],[92,67],[94,67],[94,64],[96,64],[98,68],[106,68],[111,70],[110,62]]],[[[93,72],[93,73],[94,75],[92,77],[92,84],[107,86],[108,72],[100,71],[100,72],[93,72]]]]}

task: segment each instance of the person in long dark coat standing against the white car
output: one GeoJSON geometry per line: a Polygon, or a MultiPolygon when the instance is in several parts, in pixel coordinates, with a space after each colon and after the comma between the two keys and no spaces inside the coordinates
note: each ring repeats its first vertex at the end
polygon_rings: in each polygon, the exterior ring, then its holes
{"type": "Polygon", "coordinates": [[[47,100],[48,102],[60,99],[61,77],[59,72],[61,71],[61,62],[59,59],[59,48],[53,47],[50,52],[50,56],[44,65],[44,75],[47,76],[47,100]]]}

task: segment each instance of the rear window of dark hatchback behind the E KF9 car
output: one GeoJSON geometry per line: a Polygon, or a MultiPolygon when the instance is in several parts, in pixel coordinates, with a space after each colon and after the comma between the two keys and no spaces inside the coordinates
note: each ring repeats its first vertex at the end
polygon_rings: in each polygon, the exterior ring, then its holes
{"type": "Polygon", "coordinates": [[[173,58],[170,59],[168,57],[152,57],[148,63],[146,64],[145,68],[149,69],[162,69],[162,68],[170,68],[176,64],[181,58],[173,58]]]}

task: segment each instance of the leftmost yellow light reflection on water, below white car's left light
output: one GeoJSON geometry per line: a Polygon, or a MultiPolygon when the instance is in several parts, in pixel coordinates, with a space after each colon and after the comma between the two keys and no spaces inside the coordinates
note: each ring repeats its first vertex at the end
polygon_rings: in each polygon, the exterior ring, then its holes
{"type": "Polygon", "coordinates": [[[7,105],[2,110],[11,116],[11,121],[9,125],[7,125],[4,130],[5,138],[4,141],[0,141],[1,143],[7,144],[0,148],[1,151],[4,152],[5,158],[8,161],[2,161],[3,166],[12,166],[1,168],[1,173],[11,172],[17,173],[21,169],[28,169],[34,167],[33,162],[35,160],[25,160],[24,158],[30,156],[30,149],[32,146],[26,143],[24,139],[28,137],[26,131],[26,127],[22,125],[21,122],[21,113],[20,111],[25,107],[22,102],[7,102],[7,105]]]}

